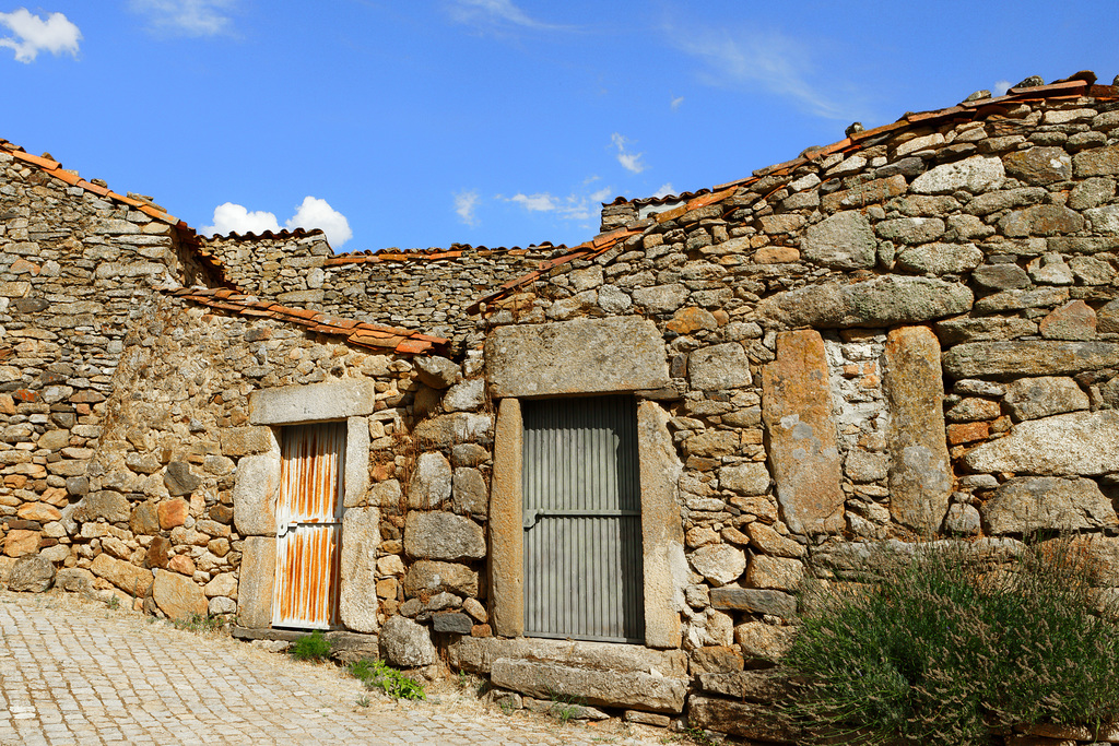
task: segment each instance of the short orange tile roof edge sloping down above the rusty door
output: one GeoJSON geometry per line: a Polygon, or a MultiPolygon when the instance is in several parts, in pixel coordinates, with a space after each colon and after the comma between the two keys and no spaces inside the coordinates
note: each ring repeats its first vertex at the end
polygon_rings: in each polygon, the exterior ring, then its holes
{"type": "Polygon", "coordinates": [[[355,321],[354,319],[339,319],[319,311],[293,309],[279,303],[272,303],[271,301],[262,301],[253,295],[246,295],[232,290],[182,287],[168,291],[168,293],[191,303],[197,303],[198,305],[205,305],[237,315],[269,318],[298,324],[318,334],[340,337],[355,347],[377,352],[445,355],[450,344],[450,340],[421,334],[411,329],[382,327],[366,323],[365,321],[355,321]]]}

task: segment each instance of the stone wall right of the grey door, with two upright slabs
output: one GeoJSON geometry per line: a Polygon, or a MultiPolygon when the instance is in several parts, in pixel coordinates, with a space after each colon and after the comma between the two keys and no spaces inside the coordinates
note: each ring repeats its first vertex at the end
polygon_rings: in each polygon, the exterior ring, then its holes
{"type": "Polygon", "coordinates": [[[526,341],[660,330],[670,390],[638,396],[684,463],[683,646],[720,674],[697,714],[780,650],[808,565],[844,575],[867,541],[1071,529],[1111,561],[1117,176],[1113,98],[959,108],[690,208],[611,206],[605,227],[643,232],[488,306],[526,341]]]}

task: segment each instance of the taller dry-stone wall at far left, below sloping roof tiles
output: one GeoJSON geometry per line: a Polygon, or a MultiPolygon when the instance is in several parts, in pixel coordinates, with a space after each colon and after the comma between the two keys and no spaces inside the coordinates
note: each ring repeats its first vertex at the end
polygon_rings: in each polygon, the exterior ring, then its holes
{"type": "Polygon", "coordinates": [[[171,224],[7,152],[0,170],[0,541],[8,561],[73,564],[67,527],[137,308],[204,275],[171,224]]]}

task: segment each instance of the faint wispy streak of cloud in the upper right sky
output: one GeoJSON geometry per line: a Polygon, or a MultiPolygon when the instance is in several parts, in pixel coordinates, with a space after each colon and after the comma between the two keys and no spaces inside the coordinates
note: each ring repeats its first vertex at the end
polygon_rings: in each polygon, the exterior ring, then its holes
{"type": "Polygon", "coordinates": [[[677,23],[666,25],[673,44],[705,65],[702,78],[709,85],[756,89],[786,96],[809,113],[825,119],[863,119],[850,96],[834,98],[826,91],[835,85],[816,84],[812,48],[778,31],[746,31],[727,28],[696,28],[681,32],[677,23]]]}

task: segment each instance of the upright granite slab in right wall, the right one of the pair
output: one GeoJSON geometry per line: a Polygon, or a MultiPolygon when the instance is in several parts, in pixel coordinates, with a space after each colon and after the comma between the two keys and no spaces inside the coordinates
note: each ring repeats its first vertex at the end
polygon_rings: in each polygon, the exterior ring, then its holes
{"type": "Polygon", "coordinates": [[[952,491],[944,440],[940,342],[928,327],[902,327],[886,337],[890,406],[890,512],[922,533],[934,533],[952,491]]]}

